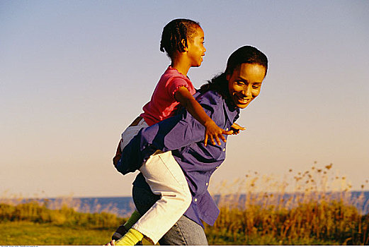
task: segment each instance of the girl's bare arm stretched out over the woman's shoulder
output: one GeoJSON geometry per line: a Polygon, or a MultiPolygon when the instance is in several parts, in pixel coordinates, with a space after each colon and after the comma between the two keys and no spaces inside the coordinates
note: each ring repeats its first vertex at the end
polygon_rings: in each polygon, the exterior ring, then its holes
{"type": "Polygon", "coordinates": [[[191,92],[186,87],[178,88],[174,93],[176,100],[181,103],[187,111],[205,127],[205,146],[208,145],[208,139],[210,139],[212,145],[215,145],[215,140],[218,145],[221,145],[220,139],[223,142],[226,141],[223,135],[232,135],[233,131],[225,131],[217,126],[217,124],[210,119],[210,116],[205,113],[203,107],[195,100],[191,92]],[[220,138],[220,139],[219,139],[220,138]],[[215,140],[214,140],[215,139],[215,140]]]}

